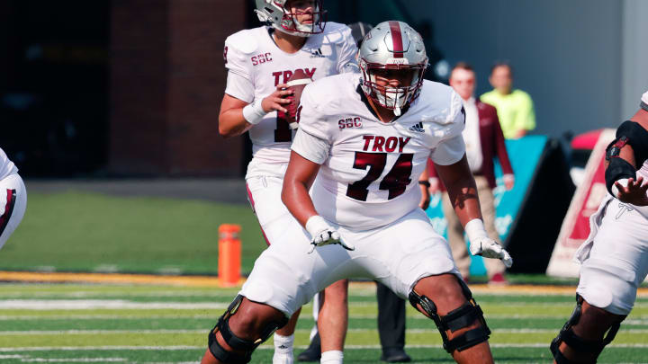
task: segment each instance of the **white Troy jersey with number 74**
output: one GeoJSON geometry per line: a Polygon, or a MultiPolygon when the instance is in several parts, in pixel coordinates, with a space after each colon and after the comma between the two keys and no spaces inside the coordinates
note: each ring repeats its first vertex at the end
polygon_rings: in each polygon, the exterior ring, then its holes
{"type": "Polygon", "coordinates": [[[418,208],[419,175],[428,157],[448,165],[464,156],[465,115],[452,88],[425,81],[409,110],[383,123],[365,103],[359,84],[359,74],[343,74],[307,85],[292,147],[322,164],[311,189],[318,213],[365,230],[418,208]]]}

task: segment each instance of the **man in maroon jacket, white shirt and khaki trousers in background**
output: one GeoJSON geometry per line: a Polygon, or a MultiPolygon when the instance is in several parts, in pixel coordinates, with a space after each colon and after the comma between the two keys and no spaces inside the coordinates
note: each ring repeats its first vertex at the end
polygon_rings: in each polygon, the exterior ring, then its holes
{"type": "MultiPolygon", "coordinates": [[[[495,229],[495,203],[492,189],[495,188],[495,171],[493,158],[500,159],[504,171],[504,184],[507,190],[513,188],[513,170],[509,162],[509,154],[504,145],[504,137],[498,120],[498,112],[491,105],[476,100],[474,90],[476,87],[475,73],[473,67],[467,63],[460,62],[450,74],[450,86],[464,99],[464,110],[466,114],[465,129],[463,132],[466,146],[466,157],[475,183],[477,194],[482,207],[482,216],[486,231],[491,239],[500,242],[500,235],[495,229]]],[[[464,280],[470,276],[470,255],[464,241],[464,227],[459,218],[455,215],[445,186],[439,183],[437,171],[433,164],[429,164],[430,192],[443,191],[443,210],[447,221],[448,242],[453,252],[453,258],[457,268],[464,280]]],[[[486,271],[489,275],[489,283],[506,284],[504,277],[504,264],[495,259],[484,259],[486,271]]]]}

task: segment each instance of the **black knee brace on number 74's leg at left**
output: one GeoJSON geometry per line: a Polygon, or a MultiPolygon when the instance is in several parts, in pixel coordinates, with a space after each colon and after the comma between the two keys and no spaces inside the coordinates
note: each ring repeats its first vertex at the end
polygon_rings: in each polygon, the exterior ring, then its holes
{"type": "Polygon", "coordinates": [[[251,341],[241,339],[229,329],[229,318],[236,314],[241,301],[243,301],[243,296],[241,295],[234,298],[234,301],[229,305],[227,311],[220,316],[218,324],[211,329],[211,332],[207,336],[211,355],[225,363],[245,364],[249,362],[249,360],[252,359],[252,352],[257,349],[257,346],[265,342],[270,335],[275,333],[276,329],[284,326],[288,321],[288,318],[284,317],[282,322],[268,324],[257,340],[251,341]],[[227,342],[232,349],[242,352],[229,351],[223,348],[218,340],[216,340],[216,333],[218,332],[222,335],[223,341],[227,342]]]}

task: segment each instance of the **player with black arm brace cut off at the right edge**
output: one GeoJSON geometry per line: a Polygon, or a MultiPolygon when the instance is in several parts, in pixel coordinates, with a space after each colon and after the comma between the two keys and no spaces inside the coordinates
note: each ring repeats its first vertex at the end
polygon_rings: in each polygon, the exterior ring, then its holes
{"type": "Polygon", "coordinates": [[[576,308],[550,346],[558,364],[595,363],[648,275],[648,92],[640,106],[606,152],[609,194],[575,254],[581,264],[576,308]]]}

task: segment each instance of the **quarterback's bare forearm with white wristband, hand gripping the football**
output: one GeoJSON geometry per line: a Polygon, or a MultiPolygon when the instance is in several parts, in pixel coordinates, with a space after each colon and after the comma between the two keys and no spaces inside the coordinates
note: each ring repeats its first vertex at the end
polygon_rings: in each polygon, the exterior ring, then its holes
{"type": "Polygon", "coordinates": [[[225,138],[237,137],[245,133],[252,126],[261,122],[268,112],[288,112],[284,105],[290,100],[285,96],[293,93],[292,90],[283,90],[286,84],[278,84],[274,93],[270,93],[261,102],[247,103],[225,93],[220,102],[219,133],[225,138]]]}

